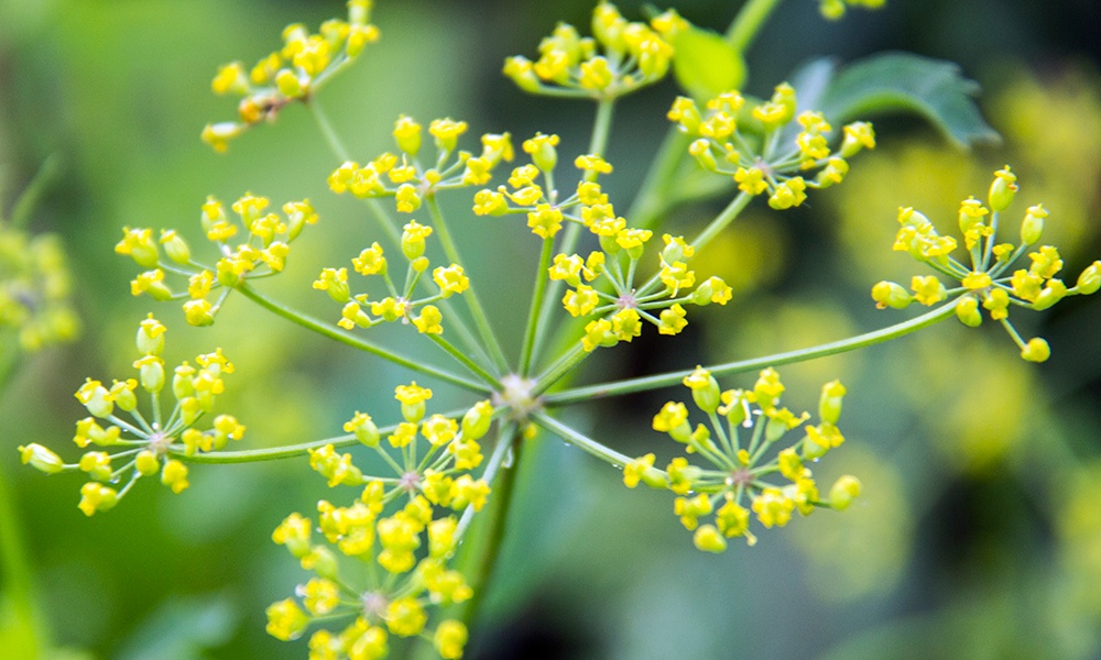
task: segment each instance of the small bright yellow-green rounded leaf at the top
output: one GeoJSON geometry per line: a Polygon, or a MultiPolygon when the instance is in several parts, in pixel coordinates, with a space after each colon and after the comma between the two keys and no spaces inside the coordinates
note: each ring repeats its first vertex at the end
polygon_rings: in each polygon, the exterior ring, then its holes
{"type": "Polygon", "coordinates": [[[673,40],[673,74],[697,100],[738,89],[745,80],[745,61],[721,35],[695,25],[673,40]]]}

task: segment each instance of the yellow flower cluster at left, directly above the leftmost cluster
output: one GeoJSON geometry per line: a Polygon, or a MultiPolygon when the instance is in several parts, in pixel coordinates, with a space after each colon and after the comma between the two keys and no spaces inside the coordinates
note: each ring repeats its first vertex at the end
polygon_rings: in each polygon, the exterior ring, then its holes
{"type": "Polygon", "coordinates": [[[186,299],[184,317],[188,323],[214,323],[215,315],[233,287],[246,278],[258,279],[281,272],[286,265],[291,242],[298,238],[303,228],[317,222],[317,213],[308,199],[283,205],[284,217],[265,212],[269,204],[266,197],[247,193],[232,204],[237,216],[235,222],[222,202],[207,198],[199,219],[207,240],[215,243],[221,254],[212,266],[193,260],[187,242],[174,229],[162,229],[160,239],[154,240],[152,229],[124,228],[115,251],[151,268],[130,283],[130,293],[134,296],[149,294],[160,301],[186,299]],[[237,237],[242,227],[247,240],[231,245],[230,239],[237,237]],[[167,260],[162,257],[162,249],[167,260]],[[186,278],[186,290],[173,290],[165,283],[166,274],[186,278]],[[210,302],[208,297],[216,289],[222,292],[215,302],[210,302]]]}

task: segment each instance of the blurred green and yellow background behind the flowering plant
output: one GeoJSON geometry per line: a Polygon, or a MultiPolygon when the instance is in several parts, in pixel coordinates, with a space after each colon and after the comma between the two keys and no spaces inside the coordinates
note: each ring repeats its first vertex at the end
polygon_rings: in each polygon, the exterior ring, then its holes
{"type": "MultiPolygon", "coordinates": [[[[591,3],[379,4],[383,40],[320,97],[357,157],[390,148],[399,113],[461,118],[476,134],[555,132],[563,154],[584,148],[589,105],[533,100],[498,72],[508,55],[534,56],[557,20],[587,31],[591,3]]],[[[621,8],[637,18],[639,4],[621,8]]],[[[722,30],[734,4],[680,9],[722,30]]],[[[391,406],[390,387],[407,380],[400,370],[349,356],[240,297],[214,328],[188,329],[175,306],[129,296],[134,266],[112,251],[123,226],[174,227],[197,245],[207,195],[231,200],[251,190],[279,204],[309,197],[321,223],[307,229],[286,274],[264,290],[333,317],[309,282],[377,237],[360,205],[328,193],[325,177],[338,163],[308,114],[291,107],[227,155],[198,134],[233,113],[232,101],[209,91],[218,65],[266,54],[287,23],[316,28],[342,12],[338,2],[304,0],[0,0],[4,199],[47,156],[61,156],[63,175],[33,229],[63,237],[85,320],[79,343],[34,356],[4,392],[0,479],[14,493],[45,626],[73,657],[306,654],[305,644],[263,630],[264,607],[303,580],[270,542],[271,530],[325,493],[304,460],[197,466],[183,495],[141,484],[118,509],[87,519],[75,506],[78,477],[22,468],[14,448],[41,442],[76,457],[67,443],[84,410],[72,393],[86,376],[128,373],[133,330],[150,309],[170,327],[170,355],[221,345],[237,364],[225,409],[248,425],[250,447],[336,435],[353,410],[391,406]]],[[[785,3],[750,53],[748,91],[767,92],[809,56],[908,50],[960,62],[982,84],[980,103],[1004,143],[964,154],[916,120],[877,122],[880,147],[854,160],[844,185],[796,212],[754,205],[700,261],[699,272],[737,283],[732,305],[702,310],[676,342],[651,336],[609,351],[590,374],[751,358],[902,320],[907,312],[876,311],[869,297],[879,279],[924,274],[891,251],[896,208],[914,206],[950,226],[959,200],[984,195],[1004,163],[1022,187],[1011,213],[1043,202],[1051,212],[1045,242],[1060,245],[1066,272],[1077,276],[1101,255],[1099,21],[1091,0],[889,0],[881,12],[855,10],[835,24],[809,0],[785,3]]],[[[608,190],[620,208],[666,130],[675,94],[662,85],[618,109],[608,190]]],[[[515,329],[532,277],[523,256],[537,246],[519,223],[468,218],[459,197],[450,202],[460,249],[473,257],[473,277],[500,286],[489,300],[494,320],[515,329]]],[[[690,232],[721,201],[679,208],[671,223],[690,232]]],[[[816,475],[830,483],[857,474],[864,496],[844,514],[764,531],[752,549],[704,556],[667,494],[628,491],[581,452],[536,439],[470,657],[1099,657],[1101,306],[1068,299],[1017,318],[1026,337],[1050,341],[1047,364],[1022,362],[1000,329],[950,321],[782,370],[793,406],[813,408],[833,377],[849,387],[849,441],[816,475]]],[[[465,402],[439,392],[439,409],[465,402]]],[[[674,396],[684,395],[655,393],[567,417],[625,453],[661,452],[667,440],[650,419],[674,396]]],[[[9,584],[4,575],[0,587],[9,584]]]]}

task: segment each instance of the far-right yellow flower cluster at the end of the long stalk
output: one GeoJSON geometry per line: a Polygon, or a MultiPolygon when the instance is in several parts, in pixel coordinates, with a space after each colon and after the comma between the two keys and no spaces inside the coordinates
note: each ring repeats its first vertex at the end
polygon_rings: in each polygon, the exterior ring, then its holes
{"type": "Polygon", "coordinates": [[[950,235],[941,235],[933,222],[913,208],[898,209],[898,232],[894,250],[907,252],[916,261],[931,267],[937,273],[955,279],[959,286],[947,288],[936,275],[915,275],[911,290],[894,282],[880,282],[872,287],[872,298],[881,309],[902,309],[911,302],[936,305],[949,298],[956,299],[956,316],[972,328],[982,323],[982,312],[986,310],[992,320],[999,321],[1021,349],[1021,356],[1029,362],[1044,362],[1051,350],[1047,341],[1034,337],[1025,341],[1010,321],[1010,307],[1047,309],[1066,296],[1089,295],[1101,288],[1101,261],[1090,264],[1078,276],[1075,286],[1068,287],[1058,277],[1062,270],[1062,258],[1054,245],[1040,245],[1044,221],[1048,212],[1043,205],[1028,207],[1021,221],[1020,243],[1000,243],[999,223],[1003,213],[1013,202],[1017,191],[1016,175],[1006,165],[994,173],[990,186],[988,206],[974,197],[960,204],[958,224],[963,237],[967,262],[952,256],[958,242],[950,235]],[[1016,268],[1009,274],[1017,261],[1027,253],[1028,267],[1016,268]]]}

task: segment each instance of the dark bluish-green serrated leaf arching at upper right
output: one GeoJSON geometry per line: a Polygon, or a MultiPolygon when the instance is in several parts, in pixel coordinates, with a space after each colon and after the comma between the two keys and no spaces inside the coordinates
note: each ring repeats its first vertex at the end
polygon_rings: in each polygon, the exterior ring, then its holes
{"type": "MultiPolygon", "coordinates": [[[[817,69],[820,76],[822,70],[817,69]]],[[[818,110],[836,124],[874,114],[916,112],[962,148],[998,143],[973,97],[979,85],[958,65],[911,53],[882,53],[843,67],[818,110]]],[[[800,99],[802,100],[802,99],[800,99]]]]}

